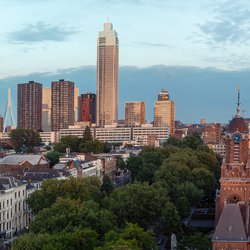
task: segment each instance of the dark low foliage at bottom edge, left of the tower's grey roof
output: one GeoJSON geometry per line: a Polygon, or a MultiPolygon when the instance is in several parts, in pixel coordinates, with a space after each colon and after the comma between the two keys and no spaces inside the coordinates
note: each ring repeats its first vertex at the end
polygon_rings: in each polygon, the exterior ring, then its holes
{"type": "Polygon", "coordinates": [[[190,250],[206,250],[211,248],[211,242],[206,235],[196,233],[193,235],[185,235],[180,242],[177,243],[177,249],[190,249],[190,250]]]}

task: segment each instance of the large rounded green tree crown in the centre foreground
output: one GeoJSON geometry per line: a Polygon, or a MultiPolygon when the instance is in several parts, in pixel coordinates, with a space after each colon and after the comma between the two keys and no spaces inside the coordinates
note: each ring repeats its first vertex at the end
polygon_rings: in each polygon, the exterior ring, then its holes
{"type": "Polygon", "coordinates": [[[109,210],[117,217],[119,226],[131,222],[148,228],[161,217],[167,201],[169,197],[165,189],[148,183],[134,183],[114,189],[109,197],[109,210]]]}

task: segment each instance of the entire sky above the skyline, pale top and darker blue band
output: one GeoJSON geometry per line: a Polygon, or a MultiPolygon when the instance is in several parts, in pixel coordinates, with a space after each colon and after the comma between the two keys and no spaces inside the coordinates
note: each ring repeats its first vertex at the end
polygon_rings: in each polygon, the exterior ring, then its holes
{"type": "Polygon", "coordinates": [[[227,122],[238,84],[248,112],[249,1],[0,0],[0,6],[0,91],[11,87],[14,104],[16,84],[28,80],[49,85],[68,76],[81,92],[95,92],[97,35],[109,18],[119,36],[120,118],[133,97],[146,101],[152,119],[157,93],[166,88],[177,119],[227,122]],[[221,100],[229,106],[218,112],[221,100]]]}

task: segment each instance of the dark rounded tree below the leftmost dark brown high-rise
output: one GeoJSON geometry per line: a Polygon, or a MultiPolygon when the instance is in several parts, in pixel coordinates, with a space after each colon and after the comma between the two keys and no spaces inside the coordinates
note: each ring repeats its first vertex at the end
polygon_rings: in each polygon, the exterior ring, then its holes
{"type": "Polygon", "coordinates": [[[11,145],[16,152],[32,153],[35,146],[41,143],[40,135],[32,129],[13,129],[10,132],[11,145]]]}

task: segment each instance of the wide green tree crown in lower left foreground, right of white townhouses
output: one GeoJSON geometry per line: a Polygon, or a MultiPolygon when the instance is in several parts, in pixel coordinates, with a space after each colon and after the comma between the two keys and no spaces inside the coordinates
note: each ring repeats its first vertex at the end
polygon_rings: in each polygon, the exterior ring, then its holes
{"type": "Polygon", "coordinates": [[[37,214],[30,230],[33,233],[54,234],[70,232],[74,228],[91,228],[103,236],[114,227],[114,222],[114,216],[94,201],[81,202],[59,197],[50,208],[37,214]]]}

